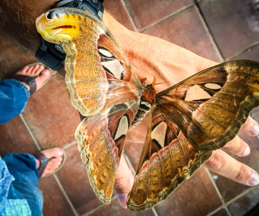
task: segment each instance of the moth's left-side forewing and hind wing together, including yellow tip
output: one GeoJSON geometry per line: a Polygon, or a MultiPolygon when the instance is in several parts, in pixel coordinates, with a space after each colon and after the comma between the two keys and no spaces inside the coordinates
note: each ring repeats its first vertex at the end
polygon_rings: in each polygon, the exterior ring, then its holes
{"type": "Polygon", "coordinates": [[[107,204],[143,85],[111,32],[90,13],[52,9],[37,18],[36,26],[45,40],[63,44],[69,99],[87,116],[75,138],[89,182],[107,204]]]}

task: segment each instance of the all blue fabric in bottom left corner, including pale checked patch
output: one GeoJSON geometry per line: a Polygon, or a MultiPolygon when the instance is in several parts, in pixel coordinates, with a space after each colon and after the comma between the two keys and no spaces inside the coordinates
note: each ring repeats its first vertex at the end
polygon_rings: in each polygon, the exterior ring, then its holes
{"type": "Polygon", "coordinates": [[[42,216],[35,157],[8,153],[0,157],[0,215],[42,216]]]}

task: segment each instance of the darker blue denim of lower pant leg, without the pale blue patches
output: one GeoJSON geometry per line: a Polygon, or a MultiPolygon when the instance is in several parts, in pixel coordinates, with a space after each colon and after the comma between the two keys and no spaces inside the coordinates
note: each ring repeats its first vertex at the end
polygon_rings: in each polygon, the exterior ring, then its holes
{"type": "Polygon", "coordinates": [[[35,157],[31,154],[8,153],[3,157],[9,173],[15,180],[11,183],[8,199],[26,199],[34,216],[42,215],[43,195],[38,188],[39,174],[35,157]]]}

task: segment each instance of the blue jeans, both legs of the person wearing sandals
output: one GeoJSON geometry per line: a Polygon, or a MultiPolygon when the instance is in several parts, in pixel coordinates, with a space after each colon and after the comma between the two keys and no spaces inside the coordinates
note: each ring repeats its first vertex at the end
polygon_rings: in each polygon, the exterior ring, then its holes
{"type": "MultiPolygon", "coordinates": [[[[0,124],[22,113],[30,97],[28,88],[14,79],[0,81],[0,124]]],[[[41,216],[43,196],[39,173],[30,154],[0,157],[0,215],[41,216]]]]}

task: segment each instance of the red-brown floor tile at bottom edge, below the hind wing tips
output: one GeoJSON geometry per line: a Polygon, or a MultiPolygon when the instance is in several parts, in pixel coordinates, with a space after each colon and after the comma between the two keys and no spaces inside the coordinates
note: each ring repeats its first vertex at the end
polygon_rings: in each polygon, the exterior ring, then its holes
{"type": "Polygon", "coordinates": [[[92,214],[89,214],[89,216],[108,216],[108,215],[123,215],[123,216],[155,216],[153,211],[151,209],[148,209],[146,211],[130,211],[128,209],[123,209],[120,205],[117,199],[113,200],[109,205],[104,205],[102,208],[98,209],[97,211],[94,211],[92,214]]]}

